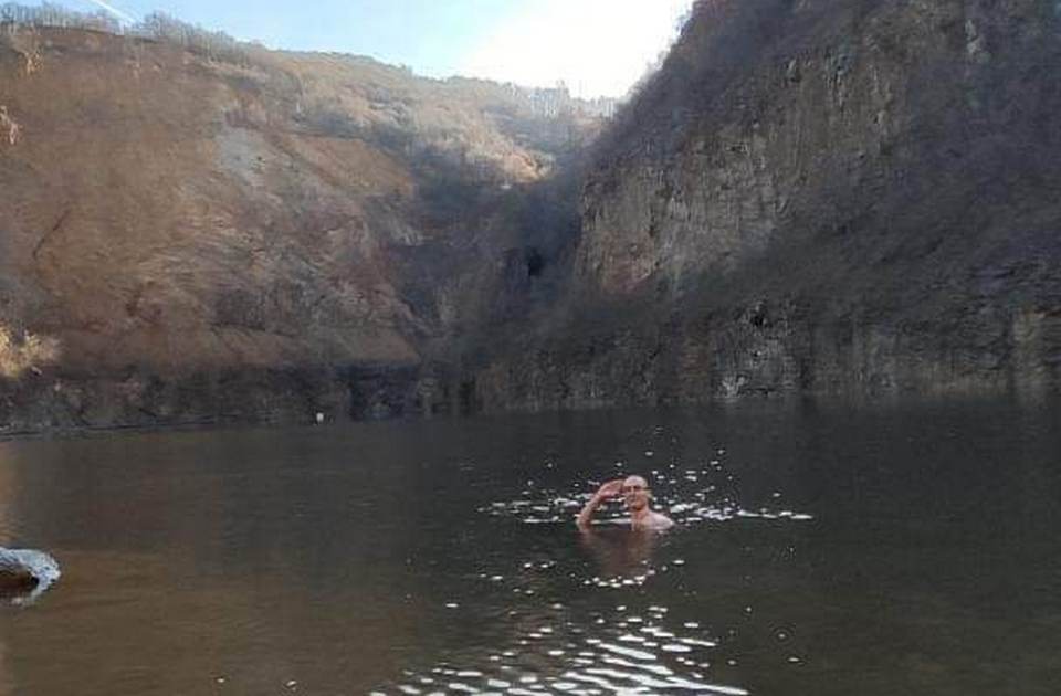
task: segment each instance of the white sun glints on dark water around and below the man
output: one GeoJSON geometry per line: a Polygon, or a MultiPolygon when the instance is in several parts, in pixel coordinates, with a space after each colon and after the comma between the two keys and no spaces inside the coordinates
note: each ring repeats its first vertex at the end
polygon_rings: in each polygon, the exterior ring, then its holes
{"type": "MultiPolygon", "coordinates": [[[[707,463],[696,468],[684,467],[679,462],[652,468],[648,477],[654,492],[654,506],[671,515],[682,527],[752,519],[811,519],[810,515],[791,509],[742,504],[734,475],[726,471],[719,458],[724,454],[723,449],[713,451],[707,463]]],[[[653,460],[656,452],[645,450],[644,455],[647,460],[653,460]]],[[[545,464],[546,468],[554,465],[551,461],[545,464]]],[[[624,466],[621,461],[614,463],[618,475],[623,475],[624,466]]],[[[572,495],[569,491],[527,481],[518,498],[495,500],[481,507],[480,513],[523,525],[569,525],[601,483],[585,481],[572,486],[581,491],[572,495]]],[[[775,492],[770,502],[776,503],[782,494],[775,492]]],[[[602,529],[629,521],[619,503],[602,508],[598,517],[595,526],[602,529]]],[[[631,550],[629,546],[627,552],[631,550]]],[[[622,567],[616,572],[587,573],[581,578],[579,572],[568,576],[584,587],[630,590],[641,588],[660,573],[674,572],[685,563],[682,558],[653,561],[647,552],[650,549],[634,547],[632,550],[633,558],[624,556],[622,567]],[[638,557],[639,552],[644,553],[643,558],[638,557]]],[[[556,570],[555,560],[539,558],[524,561],[507,572],[484,571],[479,578],[492,586],[508,586],[513,594],[533,601],[533,576],[556,570]]],[[[456,660],[444,662],[423,673],[407,672],[402,683],[379,693],[391,689],[405,694],[534,696],[556,692],[587,695],[694,692],[727,696],[748,693],[708,678],[712,651],[718,648],[719,639],[705,632],[698,622],[669,621],[666,607],[650,604],[635,613],[620,604],[613,615],[591,613],[580,620],[569,618],[563,604],[554,604],[553,609],[557,613],[550,625],[543,622],[534,629],[517,630],[506,650],[463,657],[464,665],[480,665],[476,668],[458,666],[456,660]]],[[[508,612],[510,616],[516,613],[508,612]]],[[[733,658],[715,662],[736,664],[733,658]]]]}

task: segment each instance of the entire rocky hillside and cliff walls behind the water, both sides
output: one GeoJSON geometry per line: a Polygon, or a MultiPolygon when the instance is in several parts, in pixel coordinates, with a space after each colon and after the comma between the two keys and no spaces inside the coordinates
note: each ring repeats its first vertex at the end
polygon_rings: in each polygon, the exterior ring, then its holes
{"type": "Polygon", "coordinates": [[[365,59],[0,36],[9,432],[1058,387],[1053,0],[700,0],[596,139],[365,59]]]}

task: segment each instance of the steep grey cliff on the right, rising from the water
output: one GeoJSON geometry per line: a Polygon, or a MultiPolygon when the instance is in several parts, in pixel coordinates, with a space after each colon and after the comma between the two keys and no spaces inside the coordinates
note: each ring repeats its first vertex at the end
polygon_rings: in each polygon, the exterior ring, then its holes
{"type": "Polygon", "coordinates": [[[480,399],[1055,389],[1059,14],[698,2],[597,146],[566,319],[480,399]]]}

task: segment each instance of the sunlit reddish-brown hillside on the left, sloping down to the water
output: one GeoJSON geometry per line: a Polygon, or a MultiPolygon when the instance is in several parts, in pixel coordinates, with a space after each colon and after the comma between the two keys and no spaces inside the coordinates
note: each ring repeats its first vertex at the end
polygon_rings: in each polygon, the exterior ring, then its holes
{"type": "Polygon", "coordinates": [[[0,27],[0,424],[371,401],[360,368],[445,354],[529,253],[523,201],[599,124],[537,106],[366,59],[0,27]]]}

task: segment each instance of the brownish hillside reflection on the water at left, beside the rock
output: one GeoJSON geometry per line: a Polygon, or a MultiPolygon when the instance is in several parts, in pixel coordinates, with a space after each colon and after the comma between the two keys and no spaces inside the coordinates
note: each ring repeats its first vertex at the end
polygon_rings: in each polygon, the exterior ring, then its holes
{"type": "MultiPolygon", "coordinates": [[[[398,671],[391,646],[416,643],[423,612],[406,593],[423,590],[396,590],[391,546],[351,524],[369,484],[346,482],[338,463],[298,464],[326,432],[0,444],[0,473],[19,482],[9,507],[18,539],[56,544],[63,571],[76,577],[32,611],[6,609],[20,634],[7,646],[10,694],[165,695],[216,682],[269,693],[311,673],[342,690],[398,671]],[[71,529],[86,519],[91,530],[71,529]],[[57,658],[57,640],[78,648],[57,658]],[[130,672],[132,662],[166,667],[130,672]],[[318,663],[332,667],[322,676],[318,663]]],[[[363,454],[387,445],[377,444],[363,454]]],[[[387,483],[400,472],[379,473],[377,485],[405,485],[387,483]]],[[[416,532],[407,519],[390,537],[396,546],[416,532]]],[[[0,696],[4,686],[0,677],[0,696]]]]}

